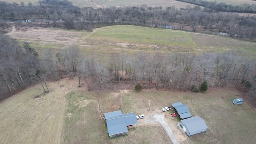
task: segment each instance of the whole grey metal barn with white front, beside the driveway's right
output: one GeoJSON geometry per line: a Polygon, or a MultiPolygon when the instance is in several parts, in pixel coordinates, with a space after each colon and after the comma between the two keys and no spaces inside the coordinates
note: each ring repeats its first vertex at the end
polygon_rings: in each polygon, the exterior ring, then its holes
{"type": "Polygon", "coordinates": [[[204,120],[199,116],[194,116],[192,118],[187,118],[180,121],[180,126],[186,132],[188,136],[193,136],[195,134],[206,133],[207,125],[204,120]]]}

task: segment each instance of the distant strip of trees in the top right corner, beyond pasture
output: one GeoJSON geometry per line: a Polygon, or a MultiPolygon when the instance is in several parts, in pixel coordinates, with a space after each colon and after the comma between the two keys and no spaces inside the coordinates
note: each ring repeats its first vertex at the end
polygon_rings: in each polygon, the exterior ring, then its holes
{"type": "Polygon", "coordinates": [[[238,12],[238,13],[256,13],[256,4],[241,4],[233,5],[218,2],[208,2],[203,0],[177,0],[180,2],[187,2],[198,6],[203,6],[206,12],[238,12]]]}

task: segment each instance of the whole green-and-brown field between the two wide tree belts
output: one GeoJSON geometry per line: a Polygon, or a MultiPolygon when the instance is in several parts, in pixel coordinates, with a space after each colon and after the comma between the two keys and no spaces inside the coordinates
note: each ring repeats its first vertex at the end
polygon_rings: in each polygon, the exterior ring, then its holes
{"type": "Polygon", "coordinates": [[[136,54],[139,51],[190,54],[233,52],[251,58],[256,56],[255,42],[141,26],[108,26],[95,29],[91,33],[56,28],[29,28],[26,32],[16,30],[8,35],[17,39],[20,44],[30,42],[39,55],[47,48],[58,51],[71,44],[78,44],[84,56],[96,56],[102,61],[111,53],[136,54]]]}

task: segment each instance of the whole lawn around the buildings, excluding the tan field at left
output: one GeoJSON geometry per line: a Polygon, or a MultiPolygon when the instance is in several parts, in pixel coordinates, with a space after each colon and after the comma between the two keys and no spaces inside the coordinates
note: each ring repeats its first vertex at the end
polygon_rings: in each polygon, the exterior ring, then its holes
{"type": "MultiPolygon", "coordinates": [[[[136,115],[144,114],[145,119],[154,113],[165,114],[165,121],[170,124],[170,128],[182,133],[184,132],[177,126],[180,120],[169,116],[172,111],[162,112],[160,109],[174,102],[186,104],[192,116],[200,116],[205,120],[208,130],[206,134],[191,136],[184,141],[176,137],[180,143],[253,143],[256,140],[254,137],[256,113],[246,102],[237,106],[232,104],[232,100],[239,97],[232,90],[212,90],[204,93],[160,90],[100,92],[101,110],[104,112],[120,110],[118,108],[120,94],[123,114],[129,112],[134,112],[136,115]],[[150,110],[148,110],[149,100],[150,110]]],[[[67,99],[68,97],[69,95],[66,96],[67,99]]],[[[72,94],[69,102],[70,114],[66,120],[65,143],[171,142],[158,124],[140,125],[137,128],[128,129],[128,136],[109,139],[104,126],[106,123],[99,112],[97,97],[96,92],[83,91],[72,94]],[[83,102],[87,105],[82,104],[83,102]]]]}

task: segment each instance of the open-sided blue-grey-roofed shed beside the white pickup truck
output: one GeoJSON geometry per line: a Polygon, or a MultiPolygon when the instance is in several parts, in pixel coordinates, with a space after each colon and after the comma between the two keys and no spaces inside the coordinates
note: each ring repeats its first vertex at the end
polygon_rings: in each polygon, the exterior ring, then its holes
{"type": "Polygon", "coordinates": [[[190,112],[188,110],[188,107],[186,105],[182,104],[181,102],[176,102],[171,105],[181,119],[192,117],[192,115],[190,114],[190,112]]]}

